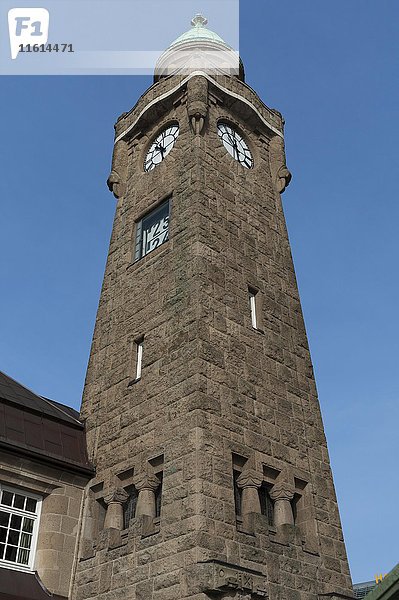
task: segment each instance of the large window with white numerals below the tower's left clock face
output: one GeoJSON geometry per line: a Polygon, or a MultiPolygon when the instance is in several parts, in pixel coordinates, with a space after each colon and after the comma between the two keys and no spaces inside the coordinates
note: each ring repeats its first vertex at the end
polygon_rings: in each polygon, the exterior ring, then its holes
{"type": "Polygon", "coordinates": [[[169,200],[137,223],[134,260],[140,260],[169,239],[169,200]]]}

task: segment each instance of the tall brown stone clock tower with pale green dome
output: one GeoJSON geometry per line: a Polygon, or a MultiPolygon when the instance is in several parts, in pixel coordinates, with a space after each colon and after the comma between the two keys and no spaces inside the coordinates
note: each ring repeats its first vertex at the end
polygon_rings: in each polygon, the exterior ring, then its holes
{"type": "Polygon", "coordinates": [[[281,205],[283,119],[242,65],[168,60],[193,45],[229,50],[197,15],[115,126],[72,598],[349,596],[281,205]]]}

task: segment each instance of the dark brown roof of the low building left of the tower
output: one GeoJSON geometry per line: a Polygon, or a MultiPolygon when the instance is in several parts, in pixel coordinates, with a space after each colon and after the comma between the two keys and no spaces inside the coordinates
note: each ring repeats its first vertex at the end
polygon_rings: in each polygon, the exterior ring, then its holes
{"type": "Polygon", "coordinates": [[[79,413],[35,394],[2,372],[0,447],[62,468],[93,472],[79,413]]]}

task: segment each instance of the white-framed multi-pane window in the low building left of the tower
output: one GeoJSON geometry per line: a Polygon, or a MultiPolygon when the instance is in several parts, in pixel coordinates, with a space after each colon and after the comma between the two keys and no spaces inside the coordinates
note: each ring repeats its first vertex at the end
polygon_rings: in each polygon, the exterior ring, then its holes
{"type": "Polygon", "coordinates": [[[41,498],[0,484],[0,566],[33,570],[41,498]]]}

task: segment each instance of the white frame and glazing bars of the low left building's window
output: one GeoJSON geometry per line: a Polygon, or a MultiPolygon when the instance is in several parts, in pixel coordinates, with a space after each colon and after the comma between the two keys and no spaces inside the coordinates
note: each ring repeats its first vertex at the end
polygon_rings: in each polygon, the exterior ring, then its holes
{"type": "MultiPolygon", "coordinates": [[[[20,496],[25,496],[26,498],[31,498],[32,500],[35,500],[36,501],[36,510],[33,513],[33,512],[29,512],[27,510],[24,510],[24,509],[15,508],[13,506],[7,506],[0,502],[0,510],[2,512],[8,512],[11,515],[17,515],[17,516],[21,516],[21,517],[28,517],[33,520],[32,541],[31,541],[31,546],[29,548],[28,563],[26,565],[24,565],[24,564],[21,564],[18,562],[6,560],[5,558],[0,558],[0,568],[7,568],[7,569],[15,570],[15,571],[25,571],[25,572],[33,571],[34,564],[35,564],[35,558],[36,558],[37,540],[39,537],[39,524],[40,524],[43,496],[40,496],[38,494],[35,494],[34,492],[30,492],[30,491],[22,489],[22,488],[17,488],[12,485],[8,485],[7,483],[4,484],[4,483],[0,482],[0,499],[2,498],[3,491],[10,492],[12,494],[18,494],[20,496]]],[[[10,529],[10,527],[7,526],[7,532],[9,531],[9,529],[10,529]]],[[[19,531],[21,533],[22,529],[20,529],[19,531]]],[[[8,534],[7,534],[7,538],[8,538],[8,534]]],[[[5,545],[6,545],[6,542],[5,542],[5,545]]],[[[19,549],[20,546],[18,545],[17,548],[19,549]]]]}

